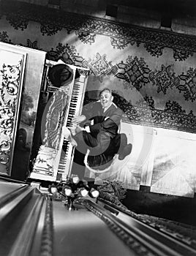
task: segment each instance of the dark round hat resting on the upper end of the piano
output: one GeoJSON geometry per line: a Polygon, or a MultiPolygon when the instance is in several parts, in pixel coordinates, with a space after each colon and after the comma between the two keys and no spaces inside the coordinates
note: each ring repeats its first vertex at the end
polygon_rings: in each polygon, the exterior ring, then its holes
{"type": "Polygon", "coordinates": [[[48,78],[53,86],[67,86],[73,79],[73,70],[66,64],[56,64],[49,69],[48,78]]]}

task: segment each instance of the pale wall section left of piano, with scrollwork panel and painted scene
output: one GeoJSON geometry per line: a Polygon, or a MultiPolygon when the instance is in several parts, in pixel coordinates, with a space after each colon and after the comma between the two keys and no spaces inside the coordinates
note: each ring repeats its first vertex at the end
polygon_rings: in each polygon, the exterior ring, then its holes
{"type": "MultiPolygon", "coordinates": [[[[14,112],[14,115],[10,117],[10,124],[7,123],[7,128],[4,129],[8,134],[11,127],[12,134],[9,134],[10,139],[7,139],[7,143],[1,141],[1,153],[4,151],[5,155],[5,151],[7,151],[7,163],[4,163],[6,162],[4,159],[1,161],[0,172],[12,176],[12,178],[24,180],[29,168],[46,53],[41,50],[2,42],[0,43],[0,49],[1,78],[3,77],[2,74],[5,74],[4,70],[2,70],[2,64],[4,63],[7,67],[8,65],[12,67],[11,80],[9,81],[10,97],[12,99],[10,98],[10,103],[9,101],[7,102],[7,108],[10,108],[10,111],[12,109],[12,112],[14,112]],[[7,55],[2,54],[5,51],[7,51],[7,55]],[[12,56],[10,56],[11,53],[12,56]],[[17,55],[18,60],[15,59],[17,55]],[[17,72],[20,72],[18,78],[15,75],[17,72]],[[18,88],[17,93],[15,93],[16,88],[18,88]],[[12,105],[8,106],[8,104],[12,105]]],[[[1,99],[2,93],[3,91],[1,90],[1,99]]],[[[9,99],[7,98],[7,100],[9,99]]],[[[4,121],[2,116],[0,121],[4,121]]],[[[2,140],[5,139],[3,138],[2,140]]]]}

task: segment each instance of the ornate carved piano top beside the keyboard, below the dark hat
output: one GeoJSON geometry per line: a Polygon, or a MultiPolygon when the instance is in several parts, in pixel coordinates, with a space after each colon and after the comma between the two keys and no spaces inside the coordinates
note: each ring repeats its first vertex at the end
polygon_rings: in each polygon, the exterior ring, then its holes
{"type": "MultiPolygon", "coordinates": [[[[71,86],[66,86],[55,91],[45,108],[42,117],[42,146],[39,148],[33,169],[33,173],[37,175],[56,177],[56,162],[59,162],[58,153],[61,150],[61,128],[67,114],[70,89],[71,86]]],[[[34,176],[33,173],[31,176],[34,176]]]]}

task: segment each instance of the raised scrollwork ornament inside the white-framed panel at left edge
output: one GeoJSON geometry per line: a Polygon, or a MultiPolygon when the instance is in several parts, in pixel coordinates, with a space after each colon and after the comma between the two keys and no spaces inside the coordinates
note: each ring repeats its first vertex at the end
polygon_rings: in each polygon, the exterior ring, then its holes
{"type": "Polygon", "coordinates": [[[4,64],[3,62],[0,70],[0,163],[5,165],[6,172],[9,172],[11,159],[21,63],[22,59],[18,59],[18,64],[4,64]]]}

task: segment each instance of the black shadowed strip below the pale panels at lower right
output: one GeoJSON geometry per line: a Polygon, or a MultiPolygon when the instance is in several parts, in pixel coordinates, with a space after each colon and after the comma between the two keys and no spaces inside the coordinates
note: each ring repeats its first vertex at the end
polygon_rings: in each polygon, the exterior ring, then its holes
{"type": "Polygon", "coordinates": [[[122,203],[137,214],[148,214],[196,226],[196,197],[177,197],[128,189],[122,203]]]}

